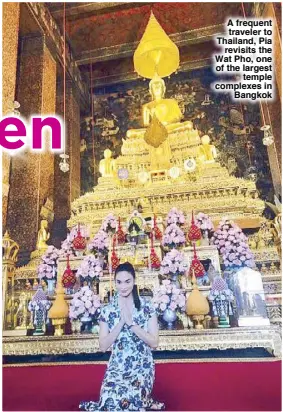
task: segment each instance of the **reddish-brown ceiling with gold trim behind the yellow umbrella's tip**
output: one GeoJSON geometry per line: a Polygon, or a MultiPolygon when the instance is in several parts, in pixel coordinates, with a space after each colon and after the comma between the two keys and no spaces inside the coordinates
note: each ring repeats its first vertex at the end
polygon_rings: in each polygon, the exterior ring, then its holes
{"type": "MultiPolygon", "coordinates": [[[[52,16],[57,30],[62,31],[64,3],[28,4],[48,8],[49,12],[41,12],[40,17],[46,20],[46,16],[52,16]]],[[[90,79],[90,67],[93,87],[137,79],[132,57],[151,11],[179,48],[181,71],[208,66],[216,47],[213,38],[224,32],[227,17],[242,12],[241,4],[235,2],[205,3],[205,7],[201,3],[66,3],[72,64],[79,68],[85,83],[90,79]]]]}

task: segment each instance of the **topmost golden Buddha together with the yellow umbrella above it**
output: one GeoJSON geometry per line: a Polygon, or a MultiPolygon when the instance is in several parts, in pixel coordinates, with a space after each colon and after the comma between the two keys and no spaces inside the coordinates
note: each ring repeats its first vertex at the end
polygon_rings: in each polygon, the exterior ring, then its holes
{"type": "MultiPolygon", "coordinates": [[[[152,101],[142,106],[142,129],[127,131],[128,147],[131,143],[143,146],[147,143],[151,172],[166,172],[173,165],[171,150],[180,137],[189,145],[199,143],[197,130],[191,121],[181,122],[183,117],[177,100],[165,98],[166,86],[162,79],[174,73],[180,63],[179,49],[165,33],[153,13],[150,14],[145,32],[134,53],[135,71],[151,79],[149,93],[152,101]],[[177,136],[179,134],[179,136],[177,136]],[[180,136],[182,135],[182,136],[180,136]]],[[[123,152],[122,152],[123,153],[123,152]]]]}

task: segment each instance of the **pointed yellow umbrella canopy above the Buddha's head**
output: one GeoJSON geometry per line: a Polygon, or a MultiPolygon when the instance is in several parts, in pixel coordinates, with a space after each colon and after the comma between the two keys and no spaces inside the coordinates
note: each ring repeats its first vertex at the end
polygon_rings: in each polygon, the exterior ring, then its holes
{"type": "Polygon", "coordinates": [[[179,49],[162,29],[151,12],[145,32],[134,54],[136,72],[147,79],[157,73],[170,76],[179,67],[179,49]]]}

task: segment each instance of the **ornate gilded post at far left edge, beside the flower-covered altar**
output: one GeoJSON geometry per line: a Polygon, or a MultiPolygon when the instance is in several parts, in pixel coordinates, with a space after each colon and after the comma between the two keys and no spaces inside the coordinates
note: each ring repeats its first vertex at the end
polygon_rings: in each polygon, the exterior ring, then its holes
{"type": "Polygon", "coordinates": [[[2,241],[3,246],[3,277],[2,277],[2,327],[5,329],[7,311],[13,323],[13,295],[14,295],[14,275],[16,262],[18,260],[19,245],[5,233],[2,241]]]}

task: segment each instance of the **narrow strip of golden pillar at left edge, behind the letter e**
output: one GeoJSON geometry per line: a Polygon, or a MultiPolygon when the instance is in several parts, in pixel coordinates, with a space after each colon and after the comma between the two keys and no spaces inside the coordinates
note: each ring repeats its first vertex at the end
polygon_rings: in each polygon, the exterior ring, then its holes
{"type": "MultiPolygon", "coordinates": [[[[20,21],[20,4],[3,3],[2,21],[2,112],[6,115],[13,108],[16,90],[16,72],[18,55],[18,37],[20,21]]],[[[2,223],[6,226],[9,174],[11,158],[2,154],[2,223]]]]}

